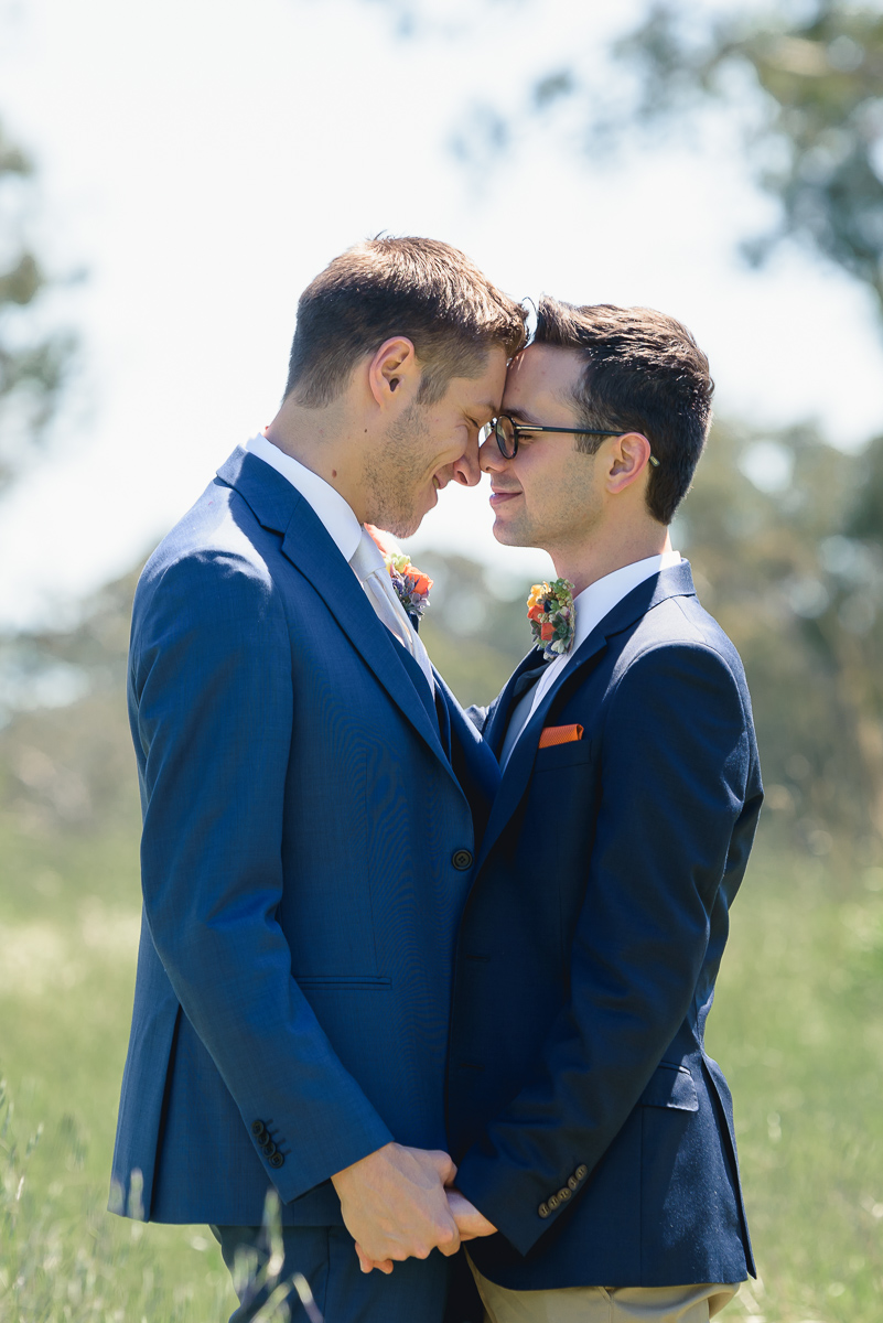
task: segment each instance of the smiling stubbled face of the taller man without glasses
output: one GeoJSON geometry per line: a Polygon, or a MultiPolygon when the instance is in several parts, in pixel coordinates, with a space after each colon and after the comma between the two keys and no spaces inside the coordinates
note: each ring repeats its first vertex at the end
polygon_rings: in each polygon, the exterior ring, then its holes
{"type": "Polygon", "coordinates": [[[505,380],[506,355],[494,347],[480,377],[453,377],[436,404],[415,398],[390,423],[364,472],[371,524],[410,537],[451,480],[475,487],[479,433],[500,411],[505,380]]]}

